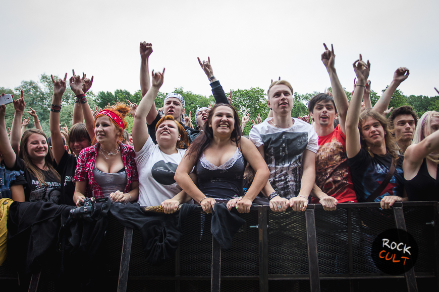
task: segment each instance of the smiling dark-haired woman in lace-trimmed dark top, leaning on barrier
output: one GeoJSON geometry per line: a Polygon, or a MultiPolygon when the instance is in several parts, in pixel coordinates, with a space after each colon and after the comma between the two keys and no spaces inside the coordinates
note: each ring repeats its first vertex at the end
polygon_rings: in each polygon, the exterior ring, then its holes
{"type": "Polygon", "coordinates": [[[242,136],[240,119],[230,104],[217,104],[208,114],[203,132],[192,142],[177,168],[175,179],[205,212],[217,202],[227,202],[230,210],[250,211],[256,195],[267,183],[268,167],[255,145],[242,136]],[[255,171],[247,193],[243,193],[246,164],[255,171]],[[189,179],[195,167],[198,187],[189,179]]]}

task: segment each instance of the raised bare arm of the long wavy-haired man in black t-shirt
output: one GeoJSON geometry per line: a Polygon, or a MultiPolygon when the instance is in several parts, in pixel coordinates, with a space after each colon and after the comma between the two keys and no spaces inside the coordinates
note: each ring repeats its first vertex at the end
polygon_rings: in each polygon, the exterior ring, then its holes
{"type": "Polygon", "coordinates": [[[356,156],[361,150],[358,122],[360,121],[361,99],[369,77],[370,63],[369,60],[367,60],[367,64],[363,62],[360,54],[360,59],[356,60],[353,66],[358,81],[346,116],[346,153],[348,158],[356,156]]]}

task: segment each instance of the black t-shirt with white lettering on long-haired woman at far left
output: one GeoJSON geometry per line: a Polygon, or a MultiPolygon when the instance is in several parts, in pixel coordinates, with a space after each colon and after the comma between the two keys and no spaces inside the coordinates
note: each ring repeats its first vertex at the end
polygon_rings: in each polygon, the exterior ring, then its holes
{"type": "Polygon", "coordinates": [[[27,202],[46,201],[52,203],[60,203],[61,183],[57,181],[56,177],[50,171],[42,171],[44,174],[43,185],[38,182],[38,179],[26,168],[24,161],[17,157],[14,170],[23,171],[24,178],[27,185],[24,188],[24,196],[27,202]]]}

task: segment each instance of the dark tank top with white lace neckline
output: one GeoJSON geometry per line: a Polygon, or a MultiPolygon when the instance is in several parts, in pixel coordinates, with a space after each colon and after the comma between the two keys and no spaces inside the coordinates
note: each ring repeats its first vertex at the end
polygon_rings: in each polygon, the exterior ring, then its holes
{"type": "Polygon", "coordinates": [[[245,164],[238,148],[221,166],[211,164],[202,154],[196,165],[198,188],[209,198],[231,199],[243,196],[245,164]]]}

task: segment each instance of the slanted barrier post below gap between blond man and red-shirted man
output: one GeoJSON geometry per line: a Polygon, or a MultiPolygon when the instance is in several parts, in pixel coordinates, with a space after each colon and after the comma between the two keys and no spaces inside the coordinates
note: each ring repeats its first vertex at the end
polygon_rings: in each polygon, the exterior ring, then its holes
{"type": "Polygon", "coordinates": [[[320,279],[318,276],[317,238],[315,233],[314,206],[308,205],[305,210],[306,234],[308,241],[309,283],[311,292],[320,292],[320,279]],[[310,208],[312,207],[312,208],[310,208]]]}

